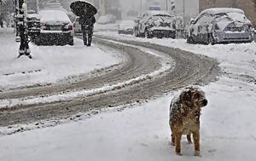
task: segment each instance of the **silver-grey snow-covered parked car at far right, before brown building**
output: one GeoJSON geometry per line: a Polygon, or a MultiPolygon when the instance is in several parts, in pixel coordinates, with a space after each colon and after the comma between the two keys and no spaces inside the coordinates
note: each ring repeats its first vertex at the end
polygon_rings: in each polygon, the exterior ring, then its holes
{"type": "Polygon", "coordinates": [[[188,43],[252,42],[252,23],[241,9],[206,9],[191,20],[188,43]]]}

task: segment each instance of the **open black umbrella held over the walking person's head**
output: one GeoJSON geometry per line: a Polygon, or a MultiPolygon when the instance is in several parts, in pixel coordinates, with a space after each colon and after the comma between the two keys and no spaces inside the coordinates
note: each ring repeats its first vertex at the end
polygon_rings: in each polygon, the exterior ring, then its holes
{"type": "Polygon", "coordinates": [[[78,0],[71,3],[70,9],[73,12],[73,14],[76,14],[77,16],[81,16],[84,14],[94,15],[98,12],[93,4],[84,0],[78,0]]]}

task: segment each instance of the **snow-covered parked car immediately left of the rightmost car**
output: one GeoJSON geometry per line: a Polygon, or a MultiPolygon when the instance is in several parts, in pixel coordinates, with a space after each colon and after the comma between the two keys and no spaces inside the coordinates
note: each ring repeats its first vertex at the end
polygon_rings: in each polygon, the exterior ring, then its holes
{"type": "Polygon", "coordinates": [[[135,21],[136,37],[176,37],[173,18],[165,11],[148,11],[135,21]]]}

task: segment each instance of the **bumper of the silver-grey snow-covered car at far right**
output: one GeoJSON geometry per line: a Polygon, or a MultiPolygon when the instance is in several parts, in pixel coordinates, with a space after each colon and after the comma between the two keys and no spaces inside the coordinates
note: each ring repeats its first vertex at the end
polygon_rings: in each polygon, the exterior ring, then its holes
{"type": "Polygon", "coordinates": [[[252,42],[252,32],[217,32],[214,34],[216,43],[252,42]]]}

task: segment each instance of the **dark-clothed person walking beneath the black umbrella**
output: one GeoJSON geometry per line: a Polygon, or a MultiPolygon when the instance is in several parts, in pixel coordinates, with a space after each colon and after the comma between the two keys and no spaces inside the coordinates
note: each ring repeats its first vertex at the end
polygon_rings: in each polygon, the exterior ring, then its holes
{"type": "Polygon", "coordinates": [[[88,14],[86,8],[84,8],[84,14],[79,16],[79,24],[82,28],[84,45],[90,47],[94,24],[96,19],[93,14],[88,14]]]}

